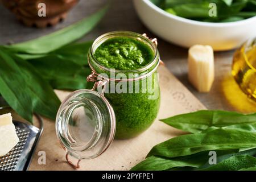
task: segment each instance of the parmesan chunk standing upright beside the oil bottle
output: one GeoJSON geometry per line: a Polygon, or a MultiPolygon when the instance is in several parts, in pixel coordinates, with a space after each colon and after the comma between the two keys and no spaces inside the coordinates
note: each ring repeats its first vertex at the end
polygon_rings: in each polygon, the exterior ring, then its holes
{"type": "Polygon", "coordinates": [[[213,49],[195,45],[188,51],[188,79],[199,92],[209,92],[214,80],[213,49]]]}

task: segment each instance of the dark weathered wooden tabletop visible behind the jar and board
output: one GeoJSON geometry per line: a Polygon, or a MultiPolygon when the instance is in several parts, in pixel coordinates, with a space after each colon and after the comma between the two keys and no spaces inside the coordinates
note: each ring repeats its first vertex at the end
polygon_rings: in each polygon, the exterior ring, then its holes
{"type": "MultiPolygon", "coordinates": [[[[72,9],[64,22],[55,27],[43,30],[24,27],[15,19],[13,14],[0,5],[0,43],[22,42],[59,30],[93,13],[104,5],[105,2],[106,0],[80,1],[79,5],[72,9]]],[[[110,10],[102,22],[86,35],[83,40],[92,40],[105,32],[115,30],[128,30],[139,33],[146,32],[150,37],[155,37],[139,20],[131,0],[113,0],[110,10]]],[[[174,73],[208,109],[238,110],[243,112],[256,111],[256,104],[247,100],[246,96],[240,91],[231,76],[230,69],[234,51],[214,53],[216,76],[212,90],[209,93],[198,93],[189,84],[187,79],[187,49],[177,47],[174,44],[159,39],[159,51],[167,68],[174,73]]]]}

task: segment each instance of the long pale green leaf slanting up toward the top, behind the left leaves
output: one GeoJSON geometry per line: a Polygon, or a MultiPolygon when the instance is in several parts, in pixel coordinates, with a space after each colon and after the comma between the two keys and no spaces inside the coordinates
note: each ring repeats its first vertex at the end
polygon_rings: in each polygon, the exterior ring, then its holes
{"type": "Polygon", "coordinates": [[[94,28],[96,24],[100,22],[107,9],[108,6],[89,16],[88,18],[82,19],[71,26],[53,32],[52,34],[29,40],[27,42],[3,47],[16,53],[44,54],[55,51],[60,47],[74,42],[92,30],[92,28],[94,28]]]}

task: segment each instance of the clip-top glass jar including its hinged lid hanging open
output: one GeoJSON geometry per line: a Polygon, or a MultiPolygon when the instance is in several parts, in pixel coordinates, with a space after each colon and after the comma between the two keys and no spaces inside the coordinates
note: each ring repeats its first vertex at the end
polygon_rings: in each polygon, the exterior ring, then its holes
{"type": "MultiPolygon", "coordinates": [[[[56,133],[68,155],[92,159],[117,139],[133,138],[154,122],[160,106],[156,69],[160,59],[156,39],[146,34],[115,31],[98,37],[88,52],[94,81],[92,90],[77,90],[62,102],[56,118],[56,133]],[[154,59],[135,70],[106,68],[95,59],[96,49],[110,38],[128,37],[146,44],[154,59]]],[[[69,160],[68,160],[69,161],[69,160]]]]}

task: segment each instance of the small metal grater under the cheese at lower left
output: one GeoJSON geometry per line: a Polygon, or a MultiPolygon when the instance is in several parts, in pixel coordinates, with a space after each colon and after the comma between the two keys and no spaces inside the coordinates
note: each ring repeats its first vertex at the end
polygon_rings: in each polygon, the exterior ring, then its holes
{"type": "Polygon", "coordinates": [[[0,157],[0,171],[25,171],[28,169],[43,131],[42,118],[39,115],[36,117],[39,120],[40,129],[24,122],[13,121],[19,143],[8,154],[0,157]]]}

